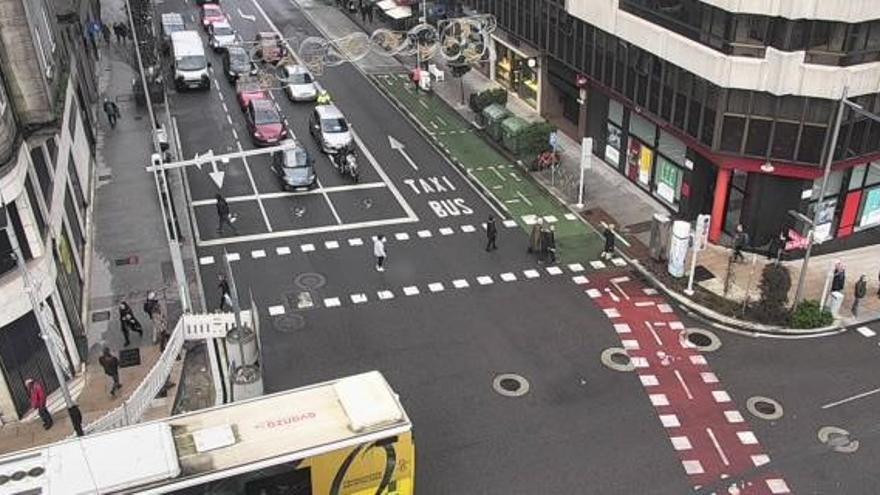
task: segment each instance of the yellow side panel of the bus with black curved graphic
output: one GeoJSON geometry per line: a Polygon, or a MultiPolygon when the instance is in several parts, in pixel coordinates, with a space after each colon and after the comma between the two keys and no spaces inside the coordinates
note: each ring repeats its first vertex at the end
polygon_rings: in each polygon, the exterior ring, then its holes
{"type": "Polygon", "coordinates": [[[312,457],[312,493],[413,495],[415,444],[412,432],[312,457]]]}

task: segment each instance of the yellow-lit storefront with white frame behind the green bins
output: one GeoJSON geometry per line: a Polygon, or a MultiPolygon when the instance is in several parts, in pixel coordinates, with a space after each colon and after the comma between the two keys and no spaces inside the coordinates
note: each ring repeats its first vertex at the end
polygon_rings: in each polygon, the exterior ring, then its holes
{"type": "Polygon", "coordinates": [[[503,33],[492,35],[489,77],[540,112],[540,54],[525,45],[511,42],[503,33]]]}

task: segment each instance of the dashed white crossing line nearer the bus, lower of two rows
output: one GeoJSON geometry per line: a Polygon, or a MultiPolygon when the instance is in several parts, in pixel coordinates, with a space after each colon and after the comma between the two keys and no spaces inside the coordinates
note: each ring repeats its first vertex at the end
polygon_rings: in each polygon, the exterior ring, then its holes
{"type": "MultiPolygon", "coordinates": [[[[296,308],[292,310],[315,309],[315,308],[342,308],[352,307],[367,303],[389,302],[398,298],[416,298],[445,292],[464,291],[471,288],[492,286],[495,284],[512,284],[516,282],[528,282],[541,278],[562,278],[570,276],[571,281],[577,285],[586,285],[589,279],[583,273],[584,265],[571,263],[568,265],[552,265],[546,267],[527,268],[517,271],[508,271],[496,274],[482,274],[471,277],[456,278],[453,280],[437,280],[428,283],[406,285],[396,288],[382,288],[372,291],[353,292],[333,297],[325,297],[321,300],[301,298],[296,308]]],[[[284,304],[268,307],[270,316],[280,316],[287,313],[288,308],[284,304]]]]}

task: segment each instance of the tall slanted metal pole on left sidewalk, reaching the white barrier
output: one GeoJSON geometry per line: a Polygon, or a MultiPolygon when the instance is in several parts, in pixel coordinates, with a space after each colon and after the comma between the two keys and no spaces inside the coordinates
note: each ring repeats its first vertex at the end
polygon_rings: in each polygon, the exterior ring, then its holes
{"type": "MultiPolygon", "coordinates": [[[[144,60],[141,57],[140,42],[138,41],[137,29],[134,24],[134,15],[131,13],[131,2],[129,0],[125,0],[125,8],[126,8],[126,11],[128,12],[128,25],[131,28],[131,39],[134,42],[134,54],[135,54],[135,57],[137,58],[137,62],[138,62],[138,71],[140,72],[140,76],[141,76],[141,85],[144,88],[144,101],[147,104],[147,112],[150,115],[150,136],[153,139],[153,150],[159,154],[160,160],[162,160],[162,146],[159,144],[159,136],[156,134],[156,124],[158,122],[156,121],[156,114],[153,112],[153,100],[150,97],[150,85],[147,84],[147,75],[146,75],[146,71],[144,71],[144,60]]],[[[161,162],[160,162],[160,165],[161,165],[161,162]]],[[[159,201],[162,203],[162,221],[168,222],[168,220],[170,219],[171,224],[172,224],[171,228],[174,230],[174,238],[172,238],[171,232],[169,232],[168,226],[166,224],[165,225],[165,239],[168,241],[168,250],[171,254],[171,261],[172,261],[171,265],[174,269],[174,277],[177,279],[177,283],[178,283],[178,292],[180,292],[180,294],[179,294],[180,304],[183,307],[183,310],[187,311],[191,307],[191,304],[189,302],[189,291],[180,290],[180,288],[186,284],[186,274],[183,271],[183,262],[182,261],[180,263],[175,262],[175,260],[182,260],[183,254],[180,252],[180,243],[178,242],[180,240],[180,237],[179,237],[178,233],[176,232],[176,224],[174,222],[174,218],[171,218],[172,212],[174,210],[172,208],[168,208],[167,214],[166,214],[166,207],[165,207],[166,198],[163,197],[163,195],[162,195],[158,172],[153,172],[153,174],[155,176],[156,189],[157,189],[157,192],[159,193],[159,201]]],[[[167,180],[168,180],[168,177],[165,175],[165,171],[163,170],[162,171],[162,181],[164,182],[166,187],[167,187],[167,180]]],[[[165,195],[165,196],[168,196],[168,195],[165,195]]],[[[170,203],[170,201],[171,201],[170,196],[168,196],[167,200],[170,203]]],[[[169,204],[169,206],[170,206],[170,204],[169,204]]]]}

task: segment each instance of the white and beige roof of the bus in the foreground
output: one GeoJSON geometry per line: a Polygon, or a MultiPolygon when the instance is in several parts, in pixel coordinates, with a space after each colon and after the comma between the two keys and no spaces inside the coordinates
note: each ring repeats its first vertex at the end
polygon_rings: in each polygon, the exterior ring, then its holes
{"type": "Polygon", "coordinates": [[[161,492],[411,427],[385,378],[371,371],[0,457],[0,475],[33,473],[0,484],[0,495],[40,487],[37,493],[161,492]]]}

